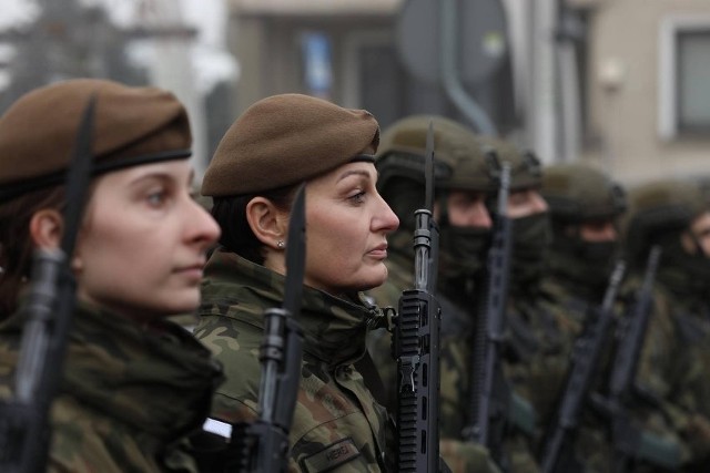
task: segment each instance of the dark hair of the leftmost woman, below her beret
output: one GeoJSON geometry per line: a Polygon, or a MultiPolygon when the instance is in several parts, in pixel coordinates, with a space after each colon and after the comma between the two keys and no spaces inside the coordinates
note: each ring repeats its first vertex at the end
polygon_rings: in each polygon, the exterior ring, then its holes
{"type": "Polygon", "coordinates": [[[34,191],[0,205],[0,319],[17,310],[20,288],[30,277],[32,216],[42,208],[61,210],[64,204],[62,186],[34,191]]]}

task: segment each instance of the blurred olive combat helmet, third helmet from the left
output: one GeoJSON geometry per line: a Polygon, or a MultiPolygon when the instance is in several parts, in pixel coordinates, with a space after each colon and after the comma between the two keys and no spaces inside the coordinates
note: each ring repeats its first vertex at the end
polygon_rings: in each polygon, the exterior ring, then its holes
{"type": "Polygon", "coordinates": [[[613,219],[627,207],[621,186],[582,163],[547,166],[540,192],[551,218],[561,224],[613,219]]]}

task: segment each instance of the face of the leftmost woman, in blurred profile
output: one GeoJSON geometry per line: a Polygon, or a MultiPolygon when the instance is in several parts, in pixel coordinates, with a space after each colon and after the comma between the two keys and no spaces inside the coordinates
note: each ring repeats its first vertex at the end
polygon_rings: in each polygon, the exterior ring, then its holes
{"type": "Polygon", "coordinates": [[[171,161],[97,181],[72,260],[82,299],[134,319],[197,307],[220,229],[192,198],[192,174],[171,161]]]}

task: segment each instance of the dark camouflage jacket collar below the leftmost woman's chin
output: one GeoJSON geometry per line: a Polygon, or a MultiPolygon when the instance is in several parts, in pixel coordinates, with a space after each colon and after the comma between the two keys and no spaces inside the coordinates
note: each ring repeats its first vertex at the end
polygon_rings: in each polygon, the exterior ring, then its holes
{"type": "Polygon", "coordinates": [[[199,429],[221,368],[185,329],[140,326],[82,307],[73,319],[63,390],[162,440],[199,429]]]}

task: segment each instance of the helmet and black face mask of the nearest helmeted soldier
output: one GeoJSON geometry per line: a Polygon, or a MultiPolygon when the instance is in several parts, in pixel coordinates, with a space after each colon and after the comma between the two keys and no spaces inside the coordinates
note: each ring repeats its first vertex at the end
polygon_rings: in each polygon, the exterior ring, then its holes
{"type": "MultiPolygon", "coordinates": [[[[414,210],[424,203],[424,158],[429,124],[434,134],[435,194],[439,205],[439,282],[453,288],[485,266],[489,228],[455,227],[448,222],[445,200],[449,189],[481,193],[495,191],[495,153],[481,144],[480,136],[453,120],[436,115],[413,115],[390,125],[381,136],[375,163],[377,187],[399,217],[398,234],[390,247],[412,251],[414,210]]],[[[410,259],[410,255],[408,255],[410,259]]]]}

